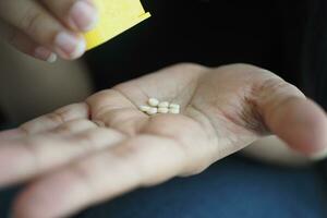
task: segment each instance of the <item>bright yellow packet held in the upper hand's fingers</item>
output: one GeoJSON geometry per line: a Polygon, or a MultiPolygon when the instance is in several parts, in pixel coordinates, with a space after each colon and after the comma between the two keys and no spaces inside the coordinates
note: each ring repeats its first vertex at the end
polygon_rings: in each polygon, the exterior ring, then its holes
{"type": "Polygon", "coordinates": [[[140,0],[94,0],[99,11],[99,22],[86,33],[87,50],[95,48],[150,16],[140,0]]]}

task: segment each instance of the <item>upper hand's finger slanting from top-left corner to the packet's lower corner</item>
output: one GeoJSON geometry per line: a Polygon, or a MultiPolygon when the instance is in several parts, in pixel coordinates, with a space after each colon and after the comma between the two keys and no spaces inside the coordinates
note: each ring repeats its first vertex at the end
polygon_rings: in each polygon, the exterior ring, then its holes
{"type": "Polygon", "coordinates": [[[61,58],[75,59],[85,51],[82,36],[66,29],[37,1],[0,1],[0,14],[9,24],[61,58]]]}

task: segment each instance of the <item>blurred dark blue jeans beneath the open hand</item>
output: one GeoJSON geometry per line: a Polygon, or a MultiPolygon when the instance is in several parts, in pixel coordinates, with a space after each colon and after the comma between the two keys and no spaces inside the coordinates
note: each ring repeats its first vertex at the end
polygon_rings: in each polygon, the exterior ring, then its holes
{"type": "MultiPolygon", "coordinates": [[[[0,193],[0,217],[8,213],[11,198],[9,191],[0,193]]],[[[323,172],[267,166],[234,156],[199,175],[134,191],[76,217],[324,218],[326,205],[323,172]]]]}

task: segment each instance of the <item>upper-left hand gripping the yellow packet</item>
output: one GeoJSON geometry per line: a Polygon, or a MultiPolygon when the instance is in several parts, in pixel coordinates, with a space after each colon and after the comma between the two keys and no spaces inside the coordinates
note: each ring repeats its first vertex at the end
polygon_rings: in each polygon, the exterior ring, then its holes
{"type": "Polygon", "coordinates": [[[85,51],[80,35],[97,21],[92,0],[2,0],[0,33],[16,49],[53,62],[57,55],[76,59],[85,51]],[[55,52],[57,55],[55,55],[55,52]]]}

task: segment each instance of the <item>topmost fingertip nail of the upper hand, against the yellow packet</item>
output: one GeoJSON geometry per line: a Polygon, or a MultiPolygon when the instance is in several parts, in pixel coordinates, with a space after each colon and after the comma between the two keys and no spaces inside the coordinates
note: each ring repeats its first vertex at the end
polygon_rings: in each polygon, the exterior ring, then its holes
{"type": "Polygon", "coordinates": [[[89,2],[81,0],[73,4],[70,17],[76,27],[83,32],[87,32],[95,27],[98,13],[97,9],[89,2]]]}

